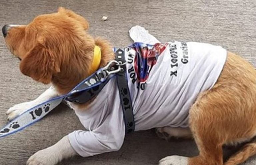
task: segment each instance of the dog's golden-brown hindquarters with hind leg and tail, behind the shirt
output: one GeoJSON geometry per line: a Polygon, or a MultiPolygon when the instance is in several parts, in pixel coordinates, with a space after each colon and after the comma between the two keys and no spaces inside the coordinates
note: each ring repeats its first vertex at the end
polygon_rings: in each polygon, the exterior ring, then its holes
{"type": "MultiPolygon", "coordinates": [[[[223,165],[222,145],[256,135],[256,73],[240,57],[229,53],[218,82],[201,93],[189,111],[189,125],[199,155],[169,156],[159,165],[223,165]]],[[[237,165],[256,153],[256,144],[245,148],[225,165],[237,165]]]]}

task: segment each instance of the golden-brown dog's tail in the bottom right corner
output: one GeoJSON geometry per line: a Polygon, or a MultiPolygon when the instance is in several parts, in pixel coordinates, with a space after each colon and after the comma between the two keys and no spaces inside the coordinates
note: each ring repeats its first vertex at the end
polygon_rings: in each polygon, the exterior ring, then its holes
{"type": "Polygon", "coordinates": [[[247,143],[234,156],[230,157],[224,165],[237,165],[256,154],[256,142],[247,143]]]}

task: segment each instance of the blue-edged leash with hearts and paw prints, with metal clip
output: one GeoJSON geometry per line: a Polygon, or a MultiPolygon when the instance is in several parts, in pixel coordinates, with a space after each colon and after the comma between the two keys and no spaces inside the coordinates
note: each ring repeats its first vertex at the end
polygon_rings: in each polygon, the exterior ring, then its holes
{"type": "MultiPolygon", "coordinates": [[[[0,129],[0,138],[16,133],[39,121],[56,106],[58,106],[64,99],[68,101],[72,100],[72,102],[76,103],[84,103],[79,102],[79,100],[72,99],[72,96],[81,92],[89,91],[92,88],[98,86],[100,86],[100,89],[102,89],[104,85],[111,78],[113,78],[116,73],[121,71],[122,65],[123,64],[120,64],[117,61],[111,61],[106,67],[99,69],[91,76],[79,83],[68,94],[54,97],[48,101],[34,106],[33,108],[26,110],[25,112],[14,118],[12,121],[10,121],[8,124],[6,124],[2,129],[0,129]]],[[[92,95],[91,97],[93,96],[94,95],[92,95]]],[[[90,99],[91,97],[88,97],[88,99],[90,99]]]]}

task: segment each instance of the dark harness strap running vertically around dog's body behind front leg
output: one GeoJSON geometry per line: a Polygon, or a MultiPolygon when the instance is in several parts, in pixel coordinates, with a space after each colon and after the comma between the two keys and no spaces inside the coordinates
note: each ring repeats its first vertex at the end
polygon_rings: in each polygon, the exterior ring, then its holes
{"type": "Polygon", "coordinates": [[[134,131],[135,124],[131,95],[127,82],[124,50],[118,49],[115,54],[116,61],[118,61],[120,64],[124,64],[121,65],[122,70],[117,73],[117,85],[119,89],[120,102],[124,113],[125,131],[126,133],[129,133],[134,131]]]}

